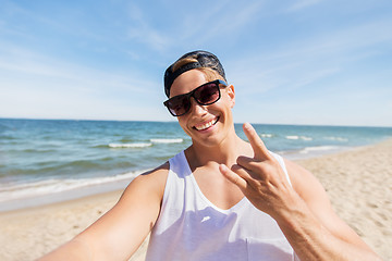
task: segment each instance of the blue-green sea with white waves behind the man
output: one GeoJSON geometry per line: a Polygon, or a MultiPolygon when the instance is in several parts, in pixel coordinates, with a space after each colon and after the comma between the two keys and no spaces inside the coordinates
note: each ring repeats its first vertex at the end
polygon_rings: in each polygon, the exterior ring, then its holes
{"type": "MultiPolygon", "coordinates": [[[[253,125],[291,160],[392,137],[391,127],[253,125]]],[[[191,144],[176,122],[0,119],[0,211],[124,189],[191,144]]]]}

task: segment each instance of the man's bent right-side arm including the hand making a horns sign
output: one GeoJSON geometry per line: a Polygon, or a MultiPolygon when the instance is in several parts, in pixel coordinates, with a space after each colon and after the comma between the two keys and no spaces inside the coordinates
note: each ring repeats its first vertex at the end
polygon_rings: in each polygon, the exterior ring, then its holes
{"type": "Polygon", "coordinates": [[[221,165],[221,172],[256,208],[278,222],[301,260],[380,260],[336,216],[324,189],[309,172],[287,162],[290,186],[255,129],[246,124],[244,132],[255,157],[240,157],[237,165],[232,170],[221,165]]]}

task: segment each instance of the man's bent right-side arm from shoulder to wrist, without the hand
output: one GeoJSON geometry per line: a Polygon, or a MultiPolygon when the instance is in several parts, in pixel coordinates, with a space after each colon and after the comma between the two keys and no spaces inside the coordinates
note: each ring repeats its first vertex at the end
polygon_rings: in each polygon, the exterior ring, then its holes
{"type": "Polygon", "coordinates": [[[302,260],[380,260],[333,211],[326,190],[302,166],[285,161],[295,191],[280,227],[302,260]],[[301,240],[298,240],[298,235],[301,240]]]}

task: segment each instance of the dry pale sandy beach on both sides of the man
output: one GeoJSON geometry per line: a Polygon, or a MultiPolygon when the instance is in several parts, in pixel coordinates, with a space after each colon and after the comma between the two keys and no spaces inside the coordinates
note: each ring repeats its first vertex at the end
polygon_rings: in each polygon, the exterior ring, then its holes
{"type": "MultiPolygon", "coordinates": [[[[392,260],[392,139],[297,162],[323,184],[338,214],[392,260]]],[[[39,258],[101,216],[121,192],[0,213],[0,260],[39,258]]],[[[144,260],[145,251],[146,244],[132,260],[144,260]]]]}

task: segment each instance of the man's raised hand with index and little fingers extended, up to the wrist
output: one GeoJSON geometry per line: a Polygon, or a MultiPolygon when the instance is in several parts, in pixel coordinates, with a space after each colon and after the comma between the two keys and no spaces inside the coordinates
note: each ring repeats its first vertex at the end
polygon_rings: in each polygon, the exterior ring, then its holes
{"type": "Polygon", "coordinates": [[[290,185],[279,162],[271,156],[260,137],[249,123],[245,123],[244,133],[254,150],[254,158],[237,158],[237,164],[231,170],[220,165],[221,173],[237,185],[245,197],[259,210],[275,220],[287,213],[298,195],[290,185]]]}

